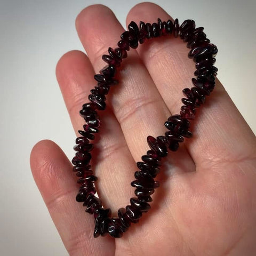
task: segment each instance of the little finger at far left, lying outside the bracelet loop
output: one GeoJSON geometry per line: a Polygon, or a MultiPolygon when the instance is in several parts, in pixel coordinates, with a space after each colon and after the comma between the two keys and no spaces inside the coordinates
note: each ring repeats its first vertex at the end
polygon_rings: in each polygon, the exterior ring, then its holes
{"type": "Polygon", "coordinates": [[[77,186],[72,166],[52,141],[38,142],[30,155],[31,171],[61,239],[70,255],[114,255],[109,237],[95,239],[93,218],[74,198],[77,186]]]}

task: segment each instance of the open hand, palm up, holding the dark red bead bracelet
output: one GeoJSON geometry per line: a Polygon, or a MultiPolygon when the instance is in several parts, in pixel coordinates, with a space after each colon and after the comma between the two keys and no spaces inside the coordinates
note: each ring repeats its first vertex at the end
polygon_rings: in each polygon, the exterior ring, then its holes
{"type": "MultiPolygon", "coordinates": [[[[158,5],[141,3],[126,23],[157,18],[170,19],[158,5]]],[[[103,5],[79,13],[76,29],[88,55],[70,51],[56,68],[75,131],[84,124],[78,113],[95,85],[93,75],[105,66],[101,55],[116,47],[124,31],[103,5]]],[[[107,109],[99,111],[91,163],[98,194],[114,215],[134,196],[129,184],[135,162],[148,150],[146,137],[164,134],[167,117],[179,113],[182,89],[192,86],[195,63],[188,51],[173,36],[131,49],[116,76],[119,84],[107,96],[107,109]]],[[[93,217],[75,201],[77,177],[63,151],[49,140],[34,146],[31,170],[70,255],[256,254],[256,139],[218,79],[190,130],[193,138],[163,159],[156,178],[161,186],[149,212],[116,240],[93,238],[93,217]]]]}

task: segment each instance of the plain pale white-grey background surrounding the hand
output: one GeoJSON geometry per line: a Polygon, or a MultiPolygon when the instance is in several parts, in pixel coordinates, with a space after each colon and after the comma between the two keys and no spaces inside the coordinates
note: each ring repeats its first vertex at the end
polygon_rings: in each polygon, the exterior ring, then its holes
{"type": "MultiPolygon", "coordinates": [[[[63,53],[83,50],[75,18],[93,3],[109,6],[125,26],[139,1],[0,1],[0,255],[68,255],[31,175],[29,154],[37,141],[51,139],[69,159],[74,155],[55,65],[63,53]]],[[[174,19],[205,28],[218,46],[218,78],[255,134],[256,2],[155,3],[174,19]]]]}

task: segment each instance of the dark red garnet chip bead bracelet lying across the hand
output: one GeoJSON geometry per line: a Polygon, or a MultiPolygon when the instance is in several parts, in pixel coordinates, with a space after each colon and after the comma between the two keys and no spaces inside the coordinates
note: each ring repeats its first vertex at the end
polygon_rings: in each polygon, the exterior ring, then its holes
{"type": "Polygon", "coordinates": [[[139,221],[142,213],[150,209],[149,203],[152,202],[150,195],[159,187],[159,182],[154,178],[159,173],[162,157],[167,156],[167,149],[176,151],[179,143],[184,141],[183,137],[192,136],[188,130],[189,120],[195,118],[196,108],[204,103],[206,95],[210,95],[213,91],[218,71],[213,66],[214,57],[218,52],[217,47],[210,43],[203,30],[203,27],[195,28],[194,20],[185,20],[181,26],[178,19],[174,22],[171,20],[162,22],[158,19],[158,22],[152,25],[141,21],[139,27],[132,21],[128,30],[121,35],[121,40],[117,43],[118,47],[116,49],[109,47],[109,55],[102,55],[102,59],[108,65],[100,70],[100,74],[94,75],[98,85],[91,90],[88,97],[90,102],[85,103],[80,110],[80,115],[85,119],[86,124],[83,126],[84,130],[78,131],[82,136],[76,139],[74,149],[77,153],[72,159],[73,171],[79,177],[77,183],[81,185],[76,201],[83,202],[85,211],[94,215],[94,237],[106,234],[114,238],[122,237],[131,223],[139,221]],[[130,199],[130,205],[118,210],[118,218],[111,218],[111,210],[104,209],[100,199],[94,195],[96,193],[94,182],[97,177],[93,175],[89,164],[90,152],[93,149],[90,140],[94,139],[94,133],[99,132],[100,126],[97,110],[106,108],[105,95],[108,94],[110,85],[117,84],[117,80],[114,79],[116,69],[121,65],[122,59],[127,57],[130,47],[136,49],[139,43],[142,44],[146,39],[162,35],[179,36],[183,42],[187,42],[187,47],[191,49],[188,57],[196,63],[194,73],[196,78],[192,78],[194,87],[183,89],[182,92],[186,98],[181,99],[183,106],[180,114],[170,116],[164,123],[169,131],[157,138],[147,137],[150,150],[141,157],[142,162],[137,163],[139,171],[134,173],[135,180],[131,182],[131,186],[135,188],[136,197],[130,199]]]}

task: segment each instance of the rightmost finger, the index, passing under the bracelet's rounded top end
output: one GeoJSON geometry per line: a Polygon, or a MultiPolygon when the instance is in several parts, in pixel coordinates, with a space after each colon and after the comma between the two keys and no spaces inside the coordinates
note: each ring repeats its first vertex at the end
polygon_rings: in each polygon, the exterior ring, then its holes
{"type": "MultiPolygon", "coordinates": [[[[131,9],[126,21],[127,24],[130,21],[139,23],[140,20],[152,23],[157,18],[173,20],[158,5],[141,3],[131,9]]],[[[192,87],[191,77],[195,71],[195,63],[187,57],[189,49],[186,43],[168,36],[141,45],[137,51],[166,106],[178,114],[182,106],[182,90],[192,87]]],[[[209,168],[209,162],[240,161],[253,155],[255,136],[218,79],[202,110],[197,110],[195,123],[192,127],[194,138],[185,145],[196,164],[209,168]]]]}

